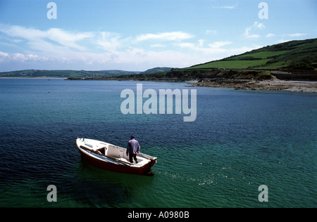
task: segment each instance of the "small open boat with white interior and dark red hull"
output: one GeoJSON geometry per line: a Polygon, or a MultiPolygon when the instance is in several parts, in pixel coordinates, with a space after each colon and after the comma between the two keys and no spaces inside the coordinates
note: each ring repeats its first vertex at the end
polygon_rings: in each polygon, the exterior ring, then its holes
{"type": "Polygon", "coordinates": [[[126,148],[89,138],[76,138],[76,145],[82,158],[94,166],[123,174],[152,175],[151,167],[157,159],[157,157],[139,153],[137,163],[135,161],[130,163],[126,148]]]}

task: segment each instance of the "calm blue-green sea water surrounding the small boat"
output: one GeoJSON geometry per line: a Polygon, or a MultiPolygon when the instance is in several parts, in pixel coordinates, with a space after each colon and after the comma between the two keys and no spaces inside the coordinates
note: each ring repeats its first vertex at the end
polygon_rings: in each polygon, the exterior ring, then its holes
{"type": "Polygon", "coordinates": [[[197,119],[183,122],[123,115],[120,93],[137,83],[0,79],[0,207],[317,207],[316,94],[197,88],[197,119]],[[154,176],[97,169],[75,147],[132,133],[158,157],[154,176]]]}

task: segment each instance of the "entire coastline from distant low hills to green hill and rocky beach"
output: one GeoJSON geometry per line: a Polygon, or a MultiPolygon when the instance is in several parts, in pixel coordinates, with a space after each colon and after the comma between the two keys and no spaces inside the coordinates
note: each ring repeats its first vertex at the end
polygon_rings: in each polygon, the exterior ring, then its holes
{"type": "Polygon", "coordinates": [[[0,77],[67,80],[189,81],[192,86],[317,91],[317,39],[287,41],[185,68],[123,70],[22,70],[0,77]],[[302,83],[302,84],[300,84],[302,83]]]}

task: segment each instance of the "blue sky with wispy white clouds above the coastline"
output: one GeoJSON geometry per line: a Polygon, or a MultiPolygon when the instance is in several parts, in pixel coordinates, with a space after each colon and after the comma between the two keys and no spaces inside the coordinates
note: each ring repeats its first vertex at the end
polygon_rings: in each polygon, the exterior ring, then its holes
{"type": "Polygon", "coordinates": [[[317,38],[316,0],[0,0],[0,72],[189,67],[317,38]]]}

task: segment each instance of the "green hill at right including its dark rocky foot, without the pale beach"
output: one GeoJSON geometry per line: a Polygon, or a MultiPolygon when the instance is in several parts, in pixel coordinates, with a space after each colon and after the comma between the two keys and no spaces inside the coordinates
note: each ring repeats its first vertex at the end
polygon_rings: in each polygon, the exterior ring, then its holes
{"type": "Polygon", "coordinates": [[[317,39],[288,41],[266,46],[222,60],[171,69],[169,72],[141,73],[116,77],[147,81],[188,81],[190,79],[298,79],[317,80],[317,39]]]}

